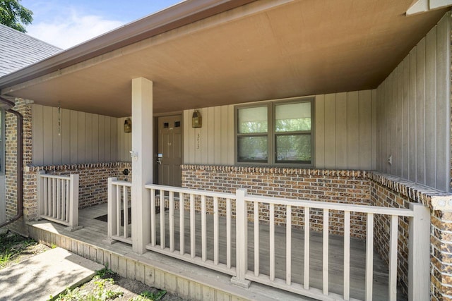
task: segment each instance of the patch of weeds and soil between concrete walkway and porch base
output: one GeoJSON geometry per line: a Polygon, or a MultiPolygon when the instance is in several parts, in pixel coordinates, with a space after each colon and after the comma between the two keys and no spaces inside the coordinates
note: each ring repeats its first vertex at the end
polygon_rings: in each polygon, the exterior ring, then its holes
{"type": "Polygon", "coordinates": [[[127,281],[127,279],[114,273],[108,266],[96,271],[96,275],[91,281],[78,288],[66,289],[64,293],[57,297],[50,296],[49,300],[57,301],[106,301],[106,300],[127,300],[127,301],[159,301],[167,293],[166,290],[156,290],[150,292],[143,290],[141,293],[133,293],[115,281],[127,281]]]}

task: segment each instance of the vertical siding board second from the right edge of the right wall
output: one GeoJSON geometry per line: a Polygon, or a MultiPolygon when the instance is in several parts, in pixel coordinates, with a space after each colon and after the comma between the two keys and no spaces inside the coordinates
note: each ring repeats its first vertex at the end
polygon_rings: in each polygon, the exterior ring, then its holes
{"type": "Polygon", "coordinates": [[[436,187],[436,27],[427,34],[425,50],[425,180],[436,187]]]}

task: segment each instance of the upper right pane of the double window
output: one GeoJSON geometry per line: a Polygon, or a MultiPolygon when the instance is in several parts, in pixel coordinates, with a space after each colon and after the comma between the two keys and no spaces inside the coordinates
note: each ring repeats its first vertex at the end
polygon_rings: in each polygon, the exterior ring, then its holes
{"type": "Polygon", "coordinates": [[[275,131],[311,130],[311,102],[278,104],[275,106],[275,131]]]}

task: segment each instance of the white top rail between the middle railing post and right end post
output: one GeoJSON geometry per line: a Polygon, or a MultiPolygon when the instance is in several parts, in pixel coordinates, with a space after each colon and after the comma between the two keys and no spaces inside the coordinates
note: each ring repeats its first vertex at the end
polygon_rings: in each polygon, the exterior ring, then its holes
{"type": "Polygon", "coordinates": [[[362,213],[396,215],[396,216],[413,216],[414,215],[412,209],[405,209],[405,208],[388,208],[388,207],[376,207],[376,206],[357,205],[357,204],[318,202],[318,201],[308,201],[308,200],[302,200],[302,199],[261,197],[261,196],[255,196],[255,195],[253,195],[253,196],[246,195],[245,201],[278,204],[278,205],[291,205],[291,206],[296,206],[296,207],[309,207],[309,208],[316,208],[316,209],[331,209],[331,210],[338,210],[338,211],[352,211],[352,212],[362,212],[362,213]]]}

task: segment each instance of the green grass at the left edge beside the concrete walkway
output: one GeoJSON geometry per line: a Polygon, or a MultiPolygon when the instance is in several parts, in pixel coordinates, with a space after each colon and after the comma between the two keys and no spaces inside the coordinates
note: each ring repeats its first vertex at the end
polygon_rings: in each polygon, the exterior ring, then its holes
{"type": "Polygon", "coordinates": [[[35,240],[6,232],[0,234],[0,269],[15,261],[21,254],[27,252],[31,245],[37,245],[35,240]]]}

